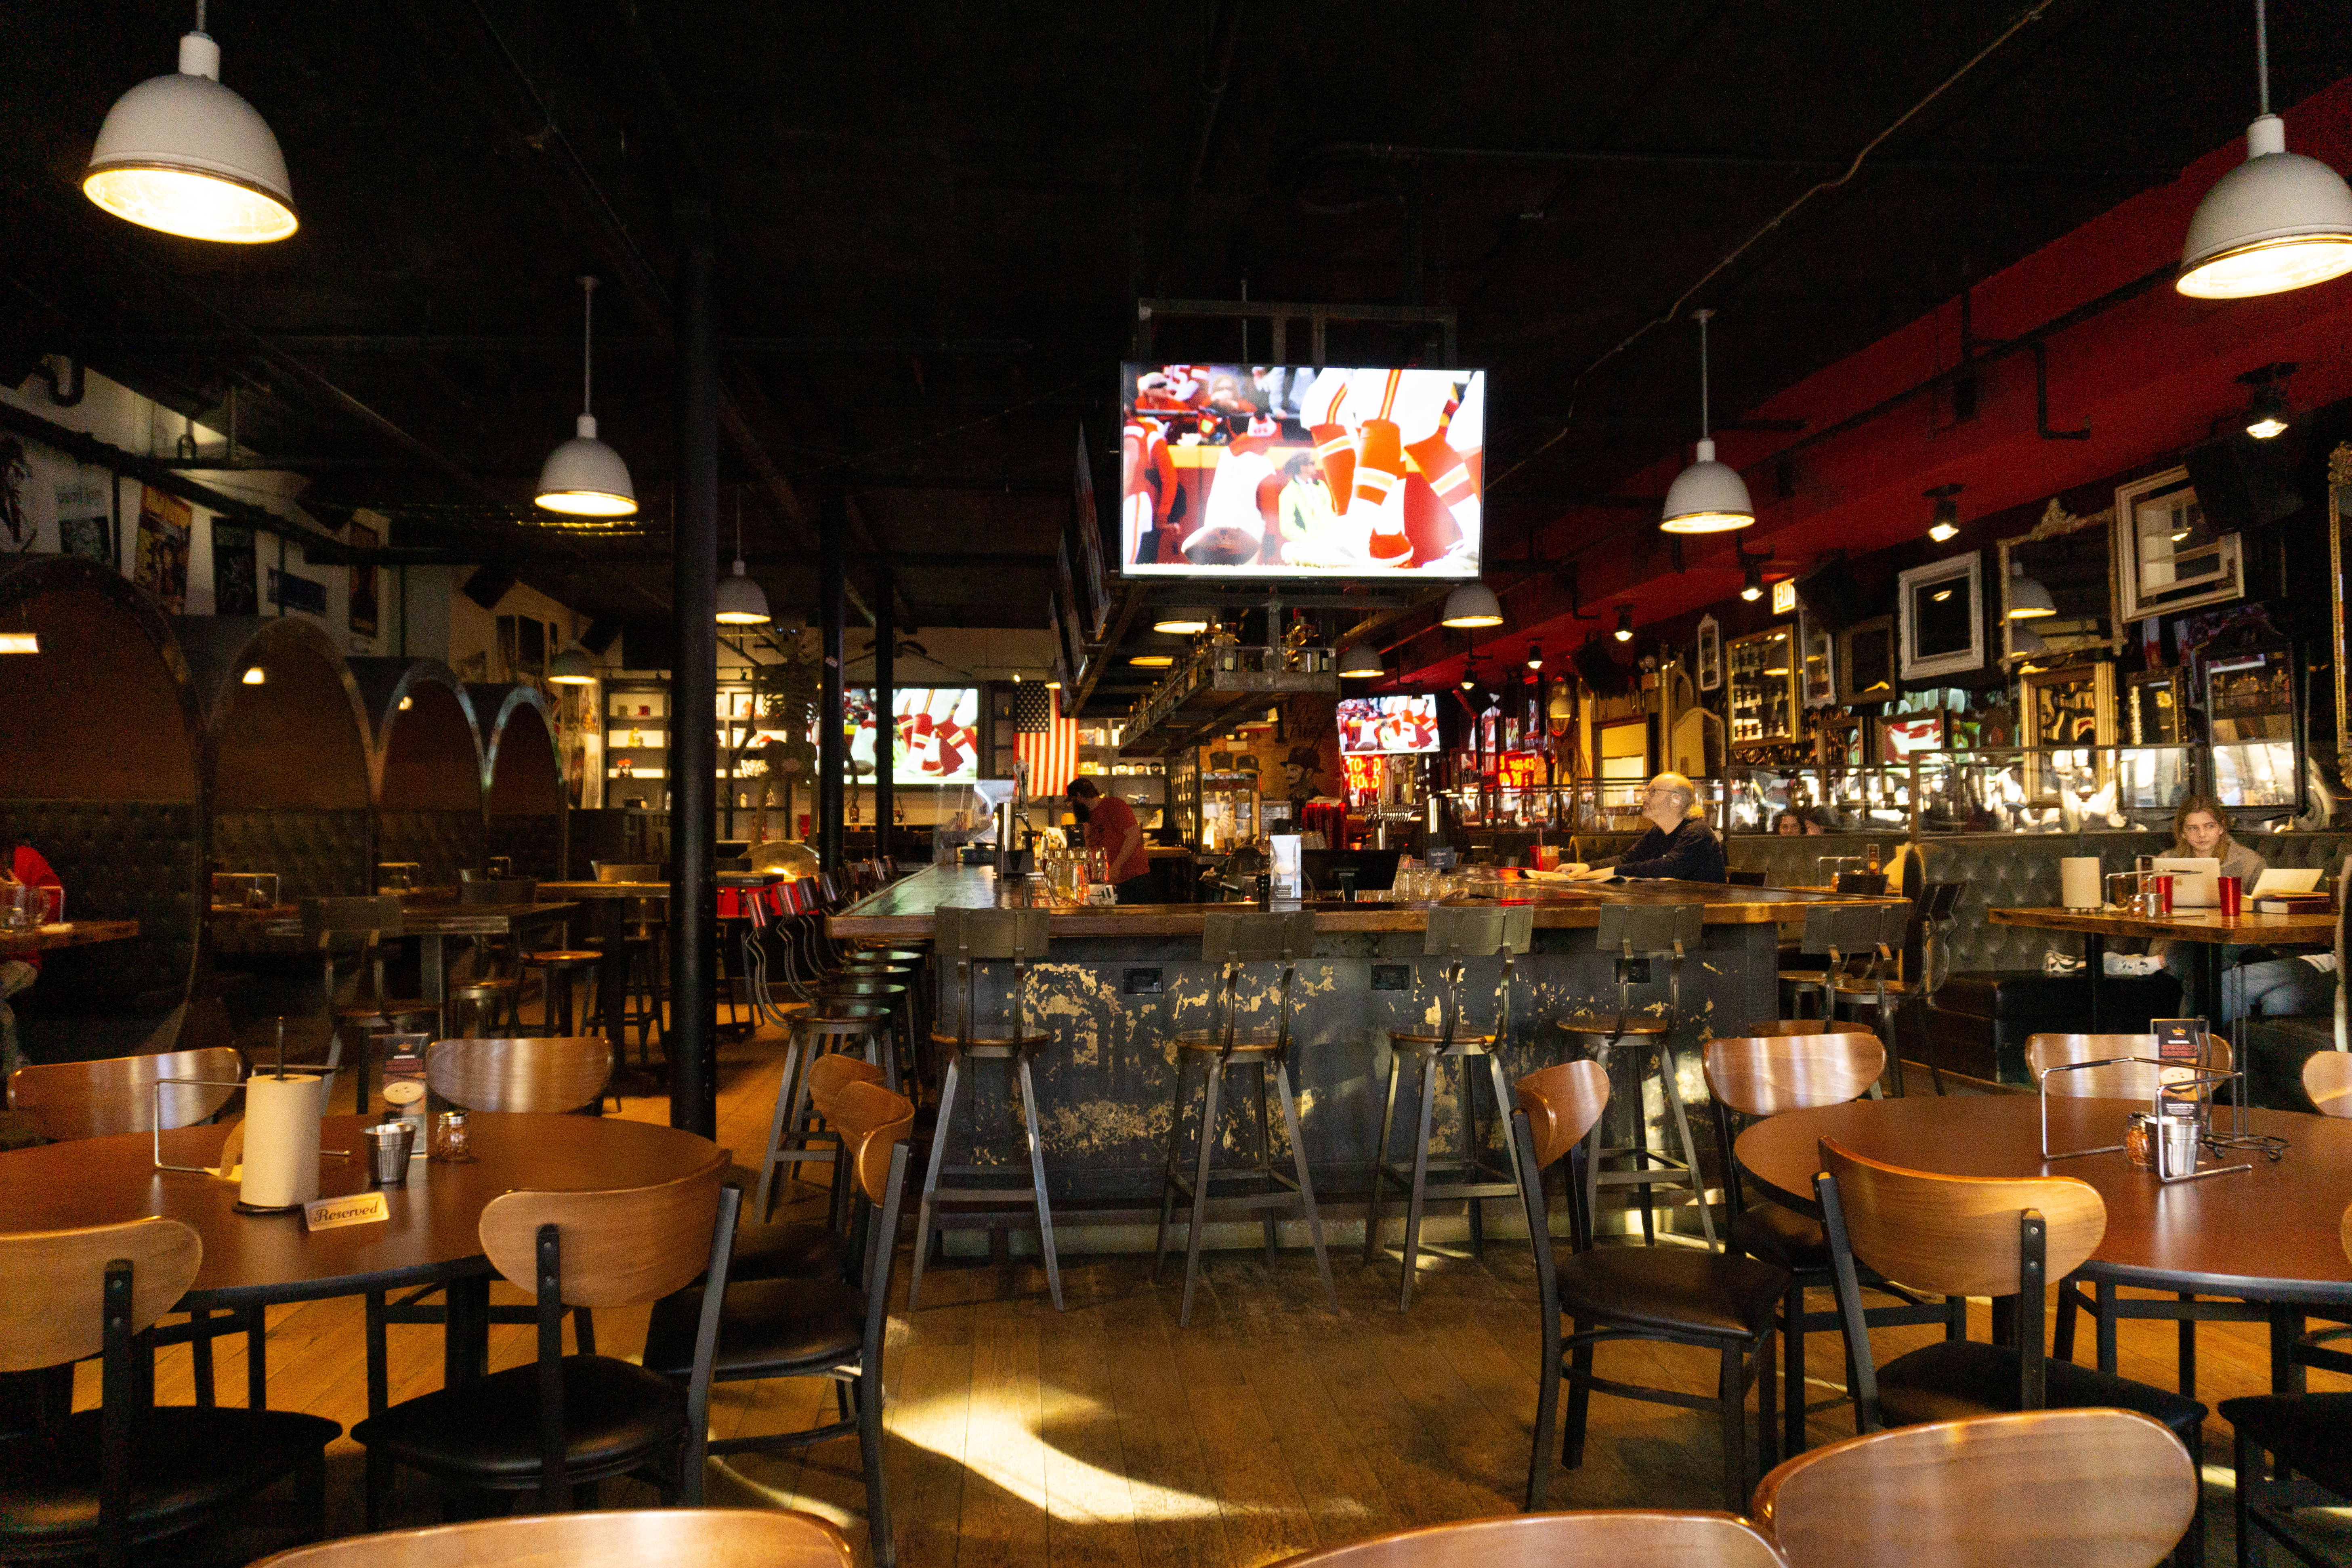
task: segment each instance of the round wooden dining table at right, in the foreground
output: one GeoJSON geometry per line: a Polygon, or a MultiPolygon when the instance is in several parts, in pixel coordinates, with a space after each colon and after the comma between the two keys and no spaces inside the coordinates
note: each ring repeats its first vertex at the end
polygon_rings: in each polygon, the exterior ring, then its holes
{"type": "MultiPolygon", "coordinates": [[[[2343,1218],[2352,1201],[2352,1121],[2249,1110],[2246,1131],[2281,1138],[2277,1161],[2232,1152],[2251,1171],[2164,1185],[2122,1152],[2042,1159],[2042,1095],[1910,1095],[1795,1110],[1757,1121],[1733,1159],[1773,1199],[1818,1213],[1820,1140],[1938,1175],[2072,1175],[2107,1204],[2107,1234],[2082,1276],[2100,1302],[2119,1286],[2258,1302],[2272,1335],[2272,1380],[2293,1392],[2300,1371],[2286,1349],[2307,1309],[2352,1316],[2352,1260],[2343,1218]]],[[[2053,1150],[2124,1143],[2124,1119],[2145,1100],[2051,1098],[2053,1150]]],[[[2216,1121],[2227,1121],[2227,1110],[2216,1121]]],[[[2114,1371],[2114,1312],[2100,1312],[2098,1363],[2114,1371]]]]}

